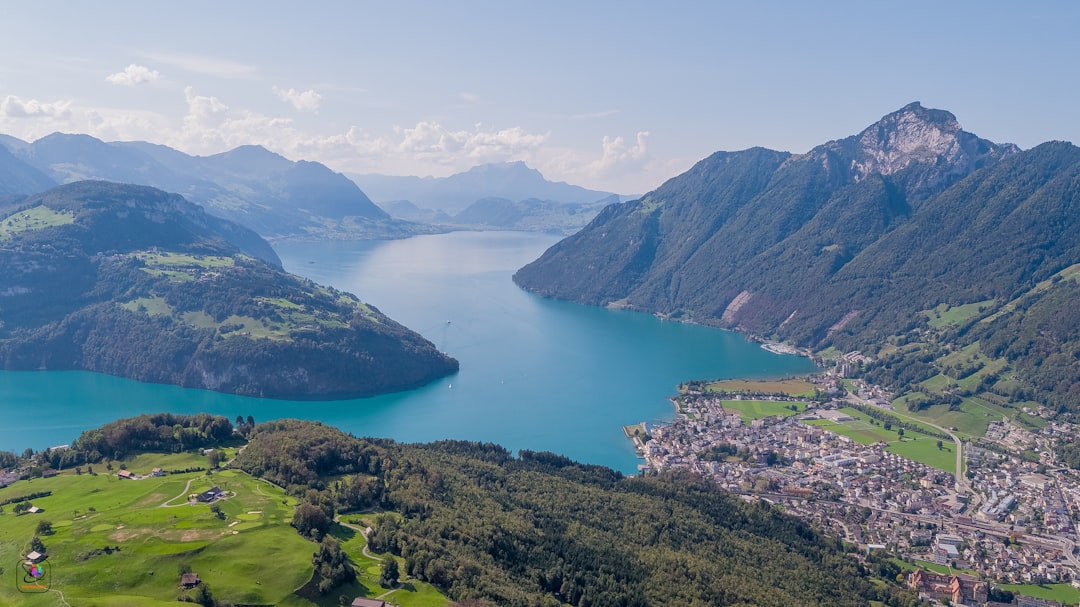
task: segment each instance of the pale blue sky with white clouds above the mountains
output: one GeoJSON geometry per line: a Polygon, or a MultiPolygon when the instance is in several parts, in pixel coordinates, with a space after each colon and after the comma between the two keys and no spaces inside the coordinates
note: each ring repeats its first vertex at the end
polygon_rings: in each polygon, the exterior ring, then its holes
{"type": "Polygon", "coordinates": [[[256,144],[346,173],[525,161],[624,194],[914,100],[998,143],[1080,141],[1075,2],[307,4],[4,2],[0,133],[256,144]]]}

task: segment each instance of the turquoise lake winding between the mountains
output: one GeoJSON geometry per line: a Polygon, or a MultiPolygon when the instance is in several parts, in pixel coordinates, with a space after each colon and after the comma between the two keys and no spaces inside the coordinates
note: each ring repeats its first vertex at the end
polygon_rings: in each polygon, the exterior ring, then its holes
{"type": "Polygon", "coordinates": [[[230,396],[82,372],[0,372],[0,448],[70,443],[119,417],[208,412],[318,419],[403,442],[467,439],[634,472],[621,427],[671,419],[679,381],[814,370],[741,335],[542,299],[513,272],[558,237],[453,232],[400,241],[283,243],[285,269],[356,294],[461,363],[418,390],[323,403],[230,396]]]}

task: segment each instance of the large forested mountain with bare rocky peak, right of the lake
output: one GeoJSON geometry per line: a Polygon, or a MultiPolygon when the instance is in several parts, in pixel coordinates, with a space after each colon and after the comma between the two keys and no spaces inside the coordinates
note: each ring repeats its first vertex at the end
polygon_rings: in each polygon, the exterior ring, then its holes
{"type": "Polygon", "coordinates": [[[805,154],[717,152],[605,208],[514,280],[550,297],[872,355],[928,331],[927,311],[980,304],[953,337],[1004,356],[1042,386],[1041,400],[1065,406],[1080,393],[1077,314],[1061,297],[1080,264],[1078,207],[1080,149],[1022,151],[914,103],[805,154]],[[1042,327],[1023,316],[1030,309],[1042,327]],[[1027,352],[990,346],[1016,340],[1059,354],[1053,379],[1027,352]]]}

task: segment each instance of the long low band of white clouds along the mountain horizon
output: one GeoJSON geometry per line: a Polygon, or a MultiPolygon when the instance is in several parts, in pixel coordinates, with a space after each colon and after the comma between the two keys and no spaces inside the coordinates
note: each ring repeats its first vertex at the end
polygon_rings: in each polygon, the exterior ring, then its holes
{"type": "Polygon", "coordinates": [[[592,152],[555,147],[552,134],[522,126],[483,124],[455,129],[419,121],[373,133],[359,125],[319,133],[289,118],[231,107],[221,98],[184,90],[186,111],[79,106],[71,100],[0,99],[0,132],[25,140],[55,131],[87,133],[107,141],[148,140],[192,154],[212,154],[241,145],[260,145],[292,159],[327,164],[335,171],[390,175],[436,175],[486,162],[525,161],[549,179],[621,193],[640,193],[685,170],[649,153],[649,133],[606,136],[592,152]]]}

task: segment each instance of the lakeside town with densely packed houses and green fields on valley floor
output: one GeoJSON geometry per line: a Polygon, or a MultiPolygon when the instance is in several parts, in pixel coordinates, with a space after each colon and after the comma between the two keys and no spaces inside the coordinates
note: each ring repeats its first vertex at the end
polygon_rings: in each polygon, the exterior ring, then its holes
{"type": "Polygon", "coordinates": [[[1001,584],[1080,589],[1080,474],[1055,464],[1051,449],[1056,436],[1076,435],[1075,424],[1030,412],[1048,420],[1038,432],[1005,417],[976,445],[893,409],[882,389],[838,370],[813,379],[813,399],[689,382],[673,399],[672,422],[626,427],[640,471],[691,470],[863,551],[903,558],[907,582],[935,603],[1075,604],[1020,593],[995,601],[1001,584]],[[915,448],[955,463],[894,453],[915,448]]]}

